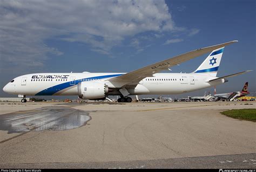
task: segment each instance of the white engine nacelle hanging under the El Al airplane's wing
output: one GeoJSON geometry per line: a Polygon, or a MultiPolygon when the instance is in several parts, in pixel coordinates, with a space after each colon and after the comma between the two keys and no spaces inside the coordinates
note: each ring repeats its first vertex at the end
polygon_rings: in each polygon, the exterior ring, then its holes
{"type": "Polygon", "coordinates": [[[77,85],[78,97],[83,99],[104,99],[109,92],[107,85],[100,81],[84,81],[77,85]]]}

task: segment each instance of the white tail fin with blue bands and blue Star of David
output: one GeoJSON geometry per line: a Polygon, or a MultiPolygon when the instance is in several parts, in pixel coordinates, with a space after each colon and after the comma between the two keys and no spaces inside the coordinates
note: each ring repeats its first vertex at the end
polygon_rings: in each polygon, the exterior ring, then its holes
{"type": "Polygon", "coordinates": [[[215,49],[193,73],[217,76],[224,47],[215,49]]]}

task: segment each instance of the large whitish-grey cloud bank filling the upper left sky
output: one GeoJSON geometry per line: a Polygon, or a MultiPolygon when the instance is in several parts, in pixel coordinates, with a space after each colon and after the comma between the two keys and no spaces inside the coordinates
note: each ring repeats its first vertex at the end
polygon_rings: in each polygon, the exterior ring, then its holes
{"type": "Polygon", "coordinates": [[[21,66],[42,66],[49,53],[62,55],[46,45],[50,39],[82,42],[110,54],[127,37],[180,30],[164,0],[3,0],[0,23],[1,61],[21,66]]]}

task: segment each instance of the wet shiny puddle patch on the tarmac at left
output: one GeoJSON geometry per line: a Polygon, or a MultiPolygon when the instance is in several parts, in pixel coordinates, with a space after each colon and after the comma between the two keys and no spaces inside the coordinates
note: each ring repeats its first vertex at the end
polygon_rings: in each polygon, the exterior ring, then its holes
{"type": "Polygon", "coordinates": [[[86,124],[91,117],[86,111],[65,106],[49,106],[28,112],[0,116],[0,130],[23,133],[42,130],[71,130],[86,124]]]}

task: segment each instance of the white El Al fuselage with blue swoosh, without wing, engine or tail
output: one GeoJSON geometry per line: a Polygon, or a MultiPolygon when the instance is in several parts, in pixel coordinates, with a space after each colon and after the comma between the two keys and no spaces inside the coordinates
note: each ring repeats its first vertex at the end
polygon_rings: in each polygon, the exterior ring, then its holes
{"type": "MultiPolygon", "coordinates": [[[[108,95],[120,95],[114,90],[109,78],[125,73],[37,73],[22,75],[14,78],[13,82],[5,85],[3,90],[10,94],[42,96],[42,95],[78,95],[79,82],[104,82],[113,89],[108,95]]],[[[134,87],[127,88],[130,95],[181,94],[212,87],[224,83],[224,79],[207,82],[217,77],[203,74],[157,73],[146,77],[134,87]]]]}

